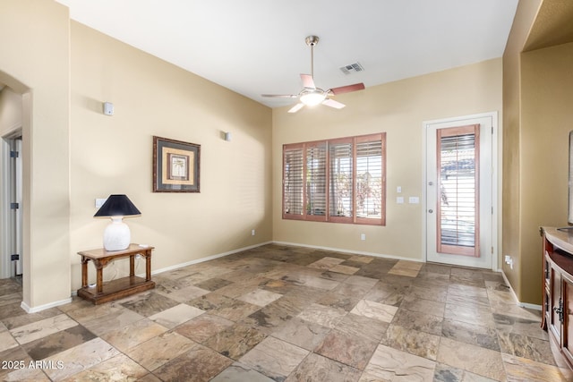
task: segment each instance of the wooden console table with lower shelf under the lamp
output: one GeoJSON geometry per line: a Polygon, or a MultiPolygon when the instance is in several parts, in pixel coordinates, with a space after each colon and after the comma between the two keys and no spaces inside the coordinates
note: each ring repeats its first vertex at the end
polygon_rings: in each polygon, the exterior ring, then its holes
{"type": "Polygon", "coordinates": [[[147,291],[155,288],[155,282],[151,281],[151,250],[154,247],[141,247],[139,244],[130,244],[126,250],[82,250],[81,256],[81,289],[78,296],[83,299],[99,304],[107,301],[121,299],[133,293],[147,291]],[[135,276],[135,257],[140,255],[145,258],[145,278],[135,276]],[[129,257],[129,276],[116,280],[103,282],[103,269],[115,259],[129,257]],[[96,284],[88,285],[88,262],[90,260],[96,267],[96,284]]]}

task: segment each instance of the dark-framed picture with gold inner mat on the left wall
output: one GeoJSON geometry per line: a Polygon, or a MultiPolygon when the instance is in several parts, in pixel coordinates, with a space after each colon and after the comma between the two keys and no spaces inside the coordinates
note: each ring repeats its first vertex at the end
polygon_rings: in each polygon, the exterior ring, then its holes
{"type": "Polygon", "coordinates": [[[199,192],[201,145],[153,137],[153,192],[199,192]]]}

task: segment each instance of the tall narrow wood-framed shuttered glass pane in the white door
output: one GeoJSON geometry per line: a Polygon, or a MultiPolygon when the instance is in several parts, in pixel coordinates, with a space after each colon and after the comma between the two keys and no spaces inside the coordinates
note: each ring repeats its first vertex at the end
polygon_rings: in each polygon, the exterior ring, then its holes
{"type": "Polygon", "coordinates": [[[479,124],[437,134],[437,250],[479,256],[479,124]]]}

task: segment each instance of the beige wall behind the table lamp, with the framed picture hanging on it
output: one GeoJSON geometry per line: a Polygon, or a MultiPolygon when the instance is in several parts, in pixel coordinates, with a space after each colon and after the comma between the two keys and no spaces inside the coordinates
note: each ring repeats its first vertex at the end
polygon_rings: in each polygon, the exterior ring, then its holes
{"type": "Polygon", "coordinates": [[[75,253],[100,247],[108,224],[92,217],[94,200],[111,193],[127,194],[141,210],[126,223],[133,242],[156,247],[153,270],[269,242],[271,110],[71,25],[72,287],[81,275],[75,253]],[[103,115],[104,101],[114,104],[114,116],[103,115]],[[200,193],[151,191],[154,135],[201,145],[200,193]]]}

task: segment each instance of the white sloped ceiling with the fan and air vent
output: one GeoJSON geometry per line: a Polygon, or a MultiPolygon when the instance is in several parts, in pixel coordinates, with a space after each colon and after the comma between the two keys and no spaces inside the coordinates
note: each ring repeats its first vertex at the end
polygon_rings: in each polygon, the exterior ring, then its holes
{"type": "Polygon", "coordinates": [[[70,16],[261,104],[294,99],[299,73],[323,89],[366,88],[503,54],[518,0],[56,0],[70,16]],[[364,71],[343,74],[346,64],[364,71]]]}

